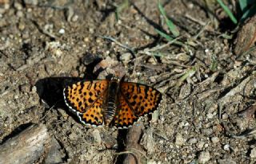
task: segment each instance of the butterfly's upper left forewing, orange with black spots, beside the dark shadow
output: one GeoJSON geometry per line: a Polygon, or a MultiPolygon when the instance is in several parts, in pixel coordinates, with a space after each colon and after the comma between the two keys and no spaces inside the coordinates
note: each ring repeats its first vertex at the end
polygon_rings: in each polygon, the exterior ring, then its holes
{"type": "Polygon", "coordinates": [[[74,112],[84,113],[108,87],[108,80],[80,81],[64,89],[64,100],[74,112]]]}

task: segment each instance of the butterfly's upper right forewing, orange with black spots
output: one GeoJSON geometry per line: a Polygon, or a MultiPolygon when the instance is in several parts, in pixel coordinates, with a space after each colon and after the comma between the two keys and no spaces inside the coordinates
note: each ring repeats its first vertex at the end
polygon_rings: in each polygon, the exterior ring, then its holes
{"type": "Polygon", "coordinates": [[[143,84],[122,82],[120,90],[134,111],[134,115],[137,116],[143,116],[157,110],[162,100],[162,94],[158,90],[143,84]]]}

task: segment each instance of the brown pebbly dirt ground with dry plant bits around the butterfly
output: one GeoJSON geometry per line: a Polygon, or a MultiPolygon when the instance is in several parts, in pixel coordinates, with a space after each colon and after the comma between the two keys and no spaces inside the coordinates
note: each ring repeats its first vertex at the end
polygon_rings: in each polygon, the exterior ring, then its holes
{"type": "Polygon", "coordinates": [[[120,162],[127,130],[85,127],[62,96],[114,72],[166,97],[137,123],[144,163],[256,162],[256,53],[234,53],[238,32],[218,5],[162,1],[182,46],[155,32],[170,33],[156,0],[0,2],[0,143],[42,123],[58,159],[35,162],[120,162]]]}

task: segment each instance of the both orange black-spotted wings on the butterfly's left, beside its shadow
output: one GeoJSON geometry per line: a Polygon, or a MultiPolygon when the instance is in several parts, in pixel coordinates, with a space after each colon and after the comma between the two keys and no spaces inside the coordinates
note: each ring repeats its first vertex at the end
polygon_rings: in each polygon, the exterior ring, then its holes
{"type": "Polygon", "coordinates": [[[80,121],[90,125],[102,125],[102,104],[108,87],[108,80],[80,81],[64,88],[64,100],[80,121]]]}

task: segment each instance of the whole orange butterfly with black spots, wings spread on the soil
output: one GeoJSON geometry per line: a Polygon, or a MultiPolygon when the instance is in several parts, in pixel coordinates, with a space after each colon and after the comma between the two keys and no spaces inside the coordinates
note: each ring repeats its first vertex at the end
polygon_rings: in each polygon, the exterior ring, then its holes
{"type": "Polygon", "coordinates": [[[80,121],[93,127],[131,127],[158,109],[161,92],[145,84],[120,80],[84,80],[63,90],[64,100],[80,121]]]}

